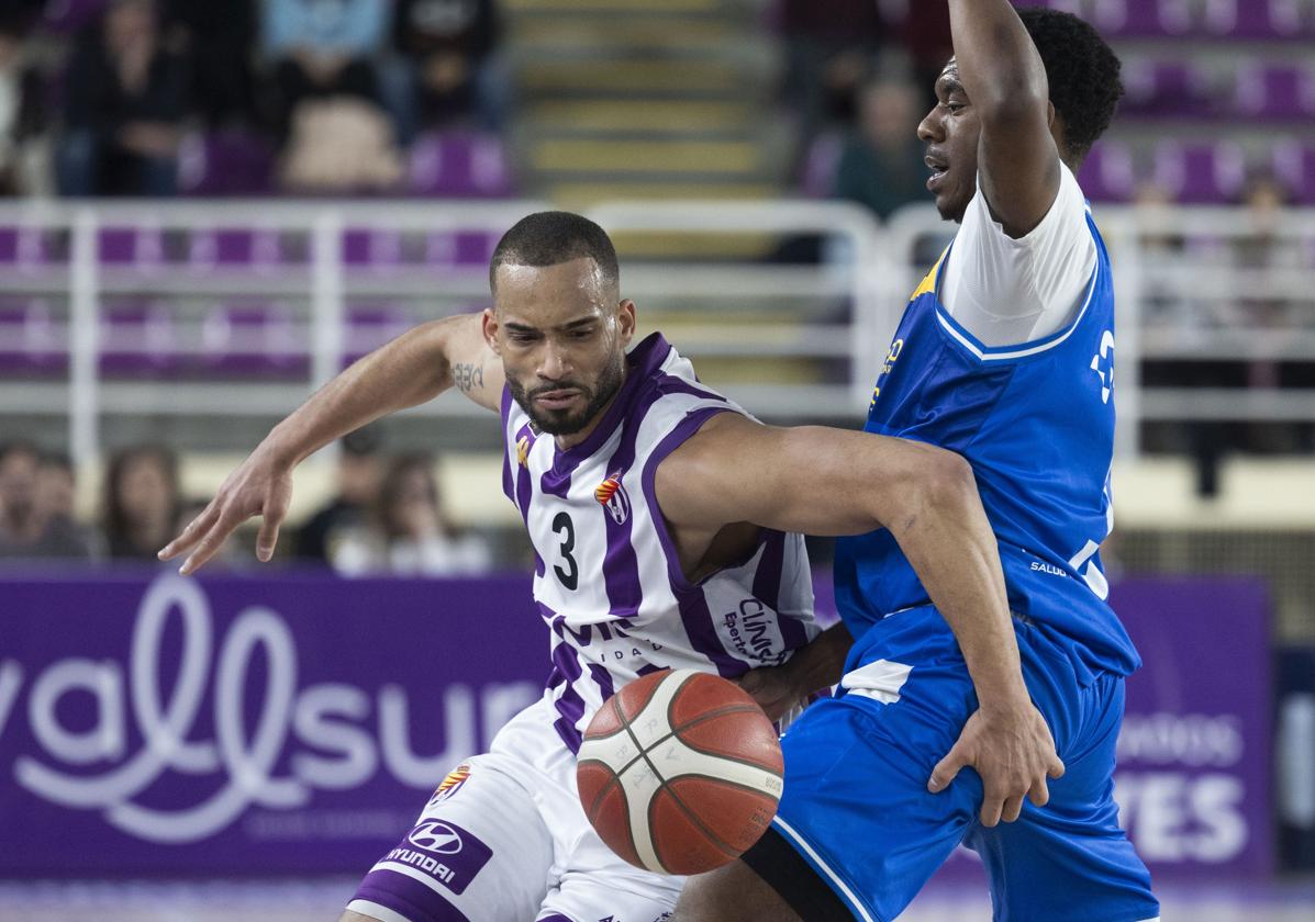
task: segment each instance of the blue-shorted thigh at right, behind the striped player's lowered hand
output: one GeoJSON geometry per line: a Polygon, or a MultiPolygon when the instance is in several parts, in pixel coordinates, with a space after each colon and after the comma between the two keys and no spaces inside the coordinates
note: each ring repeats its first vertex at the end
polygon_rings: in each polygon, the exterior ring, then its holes
{"type": "MultiPolygon", "coordinates": [[[[1031,676],[1030,676],[1031,678],[1031,676]]],[[[1024,802],[1013,823],[973,826],[965,845],[981,854],[1001,922],[1136,922],[1160,914],[1151,876],[1119,827],[1114,802],[1114,757],[1123,716],[1123,679],[1094,684],[1030,682],[1066,700],[1038,700],[1043,713],[1066,709],[1080,732],[1061,746],[1064,776],[1051,781],[1051,800],[1024,802]],[[1074,707],[1076,705],[1076,707],[1074,707]]],[[[1063,722],[1059,717],[1052,724],[1063,722]]]]}

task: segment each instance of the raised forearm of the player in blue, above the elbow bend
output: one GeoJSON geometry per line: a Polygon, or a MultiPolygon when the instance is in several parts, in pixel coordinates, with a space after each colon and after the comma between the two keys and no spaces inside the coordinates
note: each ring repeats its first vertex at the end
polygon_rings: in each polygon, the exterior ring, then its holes
{"type": "Polygon", "coordinates": [[[984,122],[1045,106],[1045,66],[1007,0],[949,0],[959,79],[984,122]]]}

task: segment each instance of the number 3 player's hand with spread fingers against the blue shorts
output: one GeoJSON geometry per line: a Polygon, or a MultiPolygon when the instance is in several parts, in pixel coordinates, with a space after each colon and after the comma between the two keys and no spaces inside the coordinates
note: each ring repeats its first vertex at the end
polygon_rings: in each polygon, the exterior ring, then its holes
{"type": "Polygon", "coordinates": [[[982,826],[1018,820],[1023,797],[1045,806],[1051,799],[1047,779],[1064,774],[1055,738],[1031,701],[992,712],[976,711],[964,724],[959,742],[932,770],[927,789],[944,791],[965,766],[976,768],[982,779],[982,826]]]}

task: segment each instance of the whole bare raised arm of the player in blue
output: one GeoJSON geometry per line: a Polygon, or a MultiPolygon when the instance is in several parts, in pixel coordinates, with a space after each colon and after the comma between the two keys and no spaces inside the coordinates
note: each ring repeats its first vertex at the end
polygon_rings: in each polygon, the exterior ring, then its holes
{"type": "Polygon", "coordinates": [[[1023,236],[1060,188],[1045,67],[1007,0],[949,0],[949,28],[959,83],[981,121],[982,192],[1005,231],[1023,236]]]}

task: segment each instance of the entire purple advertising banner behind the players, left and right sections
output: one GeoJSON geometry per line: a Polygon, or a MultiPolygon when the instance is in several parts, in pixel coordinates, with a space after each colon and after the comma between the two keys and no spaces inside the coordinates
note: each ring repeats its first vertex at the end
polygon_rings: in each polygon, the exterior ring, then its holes
{"type": "MultiPolygon", "coordinates": [[[[1157,876],[1268,871],[1261,587],[1112,602],[1124,826],[1157,876]]],[[[527,577],[0,582],[0,876],[363,872],[548,669],[527,577]]]]}

